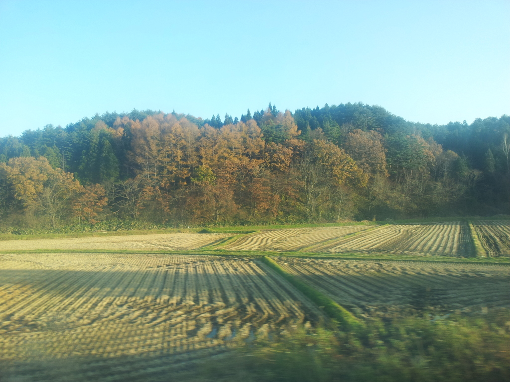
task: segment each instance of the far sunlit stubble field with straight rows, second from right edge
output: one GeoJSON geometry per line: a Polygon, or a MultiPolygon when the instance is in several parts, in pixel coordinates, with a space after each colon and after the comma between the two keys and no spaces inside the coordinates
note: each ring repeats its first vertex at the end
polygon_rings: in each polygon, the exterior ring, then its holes
{"type": "Polygon", "coordinates": [[[470,257],[472,255],[469,228],[464,223],[388,225],[346,238],[322,251],[417,254],[470,257]]]}

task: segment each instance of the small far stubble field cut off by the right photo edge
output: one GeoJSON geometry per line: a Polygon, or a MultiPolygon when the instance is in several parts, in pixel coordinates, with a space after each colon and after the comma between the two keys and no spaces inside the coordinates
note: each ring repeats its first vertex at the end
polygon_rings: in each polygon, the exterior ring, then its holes
{"type": "Polygon", "coordinates": [[[487,256],[510,256],[510,222],[479,221],[473,226],[487,256]]]}

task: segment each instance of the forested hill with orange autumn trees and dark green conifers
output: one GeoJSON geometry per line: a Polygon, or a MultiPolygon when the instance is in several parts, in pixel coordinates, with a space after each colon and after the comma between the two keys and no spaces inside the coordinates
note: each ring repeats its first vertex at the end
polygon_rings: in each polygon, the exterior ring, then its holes
{"type": "Polygon", "coordinates": [[[0,229],[509,213],[509,151],[506,115],[438,126],[362,103],[96,114],[0,139],[0,229]]]}

